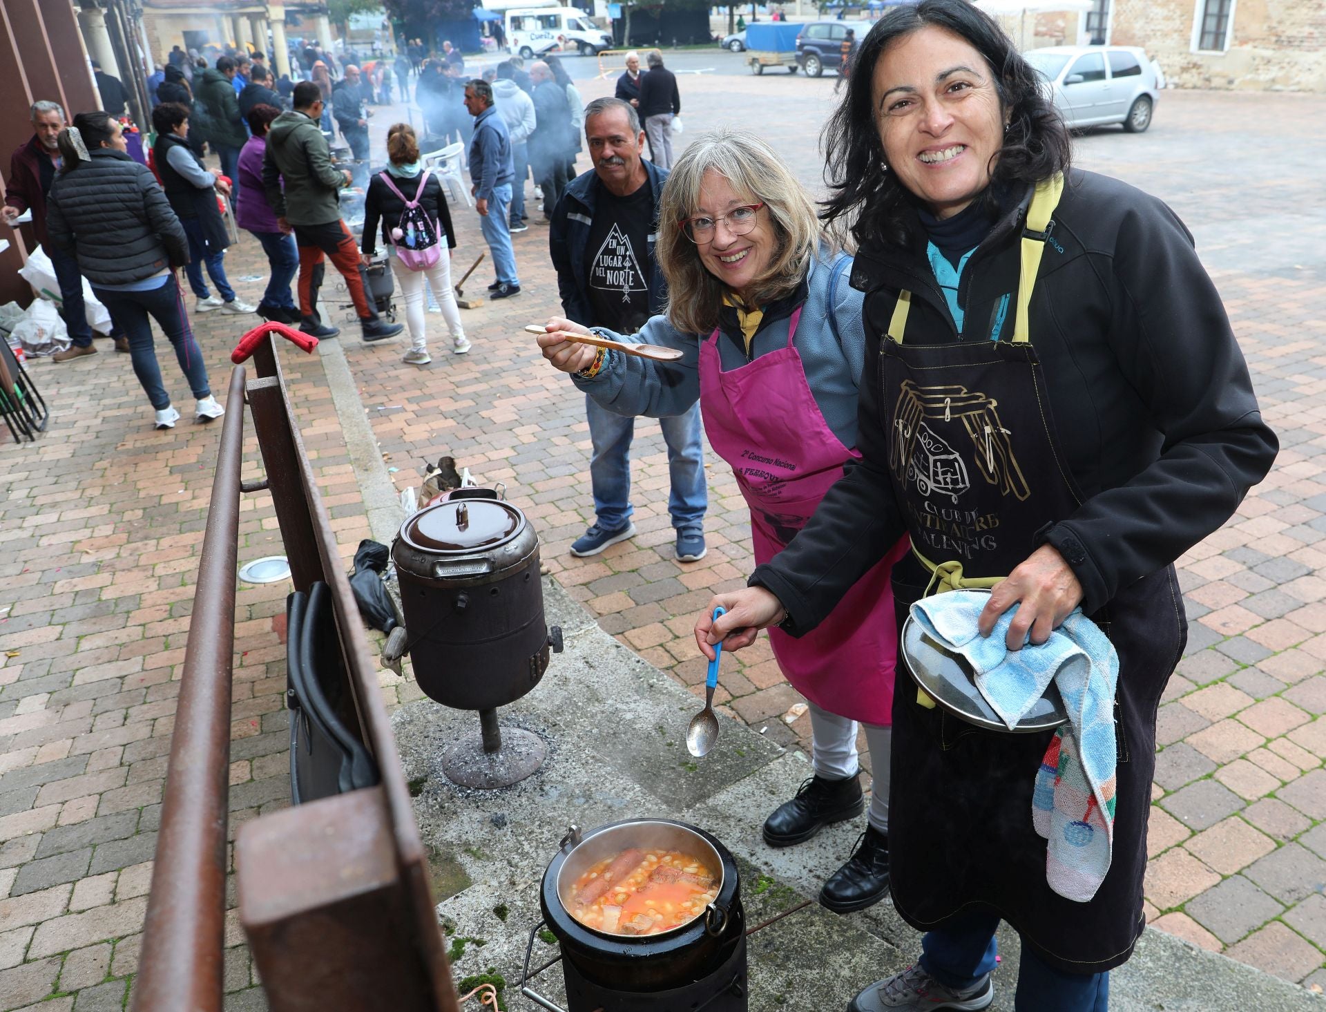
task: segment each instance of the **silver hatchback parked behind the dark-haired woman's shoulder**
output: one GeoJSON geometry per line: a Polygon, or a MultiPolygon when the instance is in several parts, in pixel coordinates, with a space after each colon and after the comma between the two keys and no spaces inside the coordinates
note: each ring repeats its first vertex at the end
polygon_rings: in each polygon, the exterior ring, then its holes
{"type": "Polygon", "coordinates": [[[1151,126],[1160,101],[1158,68],[1136,46],[1054,45],[1022,56],[1045,78],[1070,127],[1123,123],[1130,134],[1151,126]]]}

